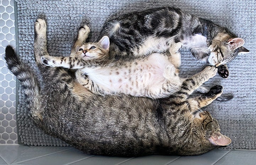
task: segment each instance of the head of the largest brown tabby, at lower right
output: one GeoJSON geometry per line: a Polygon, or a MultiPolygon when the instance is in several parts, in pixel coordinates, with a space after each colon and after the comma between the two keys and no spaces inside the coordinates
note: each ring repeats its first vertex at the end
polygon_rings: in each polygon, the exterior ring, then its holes
{"type": "Polygon", "coordinates": [[[231,139],[220,133],[219,123],[207,111],[200,112],[196,117],[198,137],[205,146],[224,146],[231,143],[231,139]]]}

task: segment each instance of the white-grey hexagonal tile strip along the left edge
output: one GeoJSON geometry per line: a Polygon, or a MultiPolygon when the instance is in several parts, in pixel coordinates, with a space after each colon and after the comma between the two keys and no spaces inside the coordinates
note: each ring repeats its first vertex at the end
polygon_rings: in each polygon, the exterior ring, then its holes
{"type": "Polygon", "coordinates": [[[16,78],[5,65],[7,45],[15,48],[14,0],[0,0],[0,144],[17,144],[16,78]]]}

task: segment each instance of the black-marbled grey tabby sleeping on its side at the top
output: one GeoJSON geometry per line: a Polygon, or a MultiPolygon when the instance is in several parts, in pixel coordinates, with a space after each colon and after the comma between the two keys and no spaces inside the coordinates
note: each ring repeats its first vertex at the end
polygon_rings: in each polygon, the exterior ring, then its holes
{"type": "Polygon", "coordinates": [[[129,56],[163,53],[175,43],[191,50],[197,60],[218,67],[223,78],[229,76],[228,62],[239,53],[249,52],[244,40],[227,28],[198,18],[174,7],[160,7],[121,15],[107,21],[100,33],[112,46],[129,56]]]}

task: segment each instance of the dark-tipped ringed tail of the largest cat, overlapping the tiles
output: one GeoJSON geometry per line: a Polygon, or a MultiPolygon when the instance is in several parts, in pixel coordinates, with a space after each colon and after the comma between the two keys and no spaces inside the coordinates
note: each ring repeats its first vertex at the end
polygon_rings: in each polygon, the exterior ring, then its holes
{"type": "Polygon", "coordinates": [[[24,89],[26,95],[26,104],[30,111],[31,118],[35,123],[42,119],[39,113],[39,82],[37,77],[31,72],[29,67],[22,64],[12,46],[8,45],[5,49],[5,60],[9,70],[20,81],[20,86],[24,89]]]}

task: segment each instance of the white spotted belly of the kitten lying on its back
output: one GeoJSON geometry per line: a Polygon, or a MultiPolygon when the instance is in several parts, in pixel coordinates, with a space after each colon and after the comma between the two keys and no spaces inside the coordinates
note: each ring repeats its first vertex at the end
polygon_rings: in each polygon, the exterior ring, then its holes
{"type": "Polygon", "coordinates": [[[175,69],[167,56],[154,53],[146,59],[138,59],[135,62],[132,62],[128,67],[93,68],[87,71],[87,75],[94,83],[104,86],[109,94],[125,93],[134,96],[160,98],[175,92],[181,85],[180,78],[174,75],[175,69]],[[173,71],[167,72],[170,73],[169,80],[165,78],[166,76],[164,77],[164,70],[167,66],[173,67],[173,71]],[[159,94],[167,82],[170,82],[168,84],[173,89],[159,94]]]}

